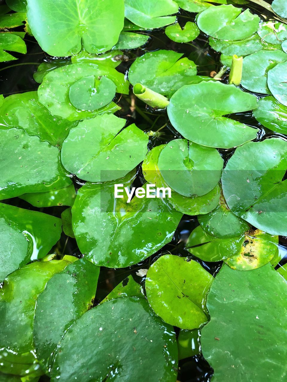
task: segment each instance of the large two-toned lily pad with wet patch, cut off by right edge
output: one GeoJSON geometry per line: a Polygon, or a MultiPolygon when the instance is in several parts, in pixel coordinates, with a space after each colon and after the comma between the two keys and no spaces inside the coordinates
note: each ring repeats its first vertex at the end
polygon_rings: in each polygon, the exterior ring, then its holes
{"type": "Polygon", "coordinates": [[[287,235],[287,142],[269,138],[238,147],[222,174],[228,207],[254,227],[287,235]]]}

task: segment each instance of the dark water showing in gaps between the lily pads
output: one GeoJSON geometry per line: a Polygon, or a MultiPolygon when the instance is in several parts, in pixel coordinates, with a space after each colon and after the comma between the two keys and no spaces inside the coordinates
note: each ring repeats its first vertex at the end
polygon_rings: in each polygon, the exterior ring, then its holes
{"type": "MultiPolygon", "coordinates": [[[[242,0],[243,2],[243,0],[242,0]]],[[[0,4],[3,2],[0,2],[0,4]]],[[[232,3],[232,2],[230,2],[232,3]]],[[[276,19],[272,13],[267,12],[263,8],[257,6],[252,2],[244,2],[245,5],[240,5],[239,1],[236,6],[242,6],[246,8],[248,6],[253,13],[261,16],[262,19],[276,19]]],[[[271,1],[269,1],[271,3],[271,1]]],[[[194,21],[195,14],[186,11],[181,11],[178,15],[178,22],[181,26],[184,26],[186,21],[194,21]]],[[[277,20],[277,19],[276,19],[277,20]]],[[[280,20],[279,20],[280,21],[280,20]]],[[[21,30],[21,28],[19,28],[21,30]]],[[[204,76],[210,76],[212,72],[218,72],[221,68],[220,53],[215,52],[208,45],[208,38],[204,34],[200,34],[197,39],[188,44],[178,44],[171,41],[166,37],[164,29],[157,31],[144,31],[141,32],[148,34],[151,38],[143,49],[137,49],[124,52],[127,55],[128,60],[122,62],[117,67],[117,70],[122,73],[126,73],[129,66],[135,60],[136,57],[143,55],[145,52],[151,52],[158,49],[175,50],[176,52],[183,53],[183,57],[188,57],[198,65],[198,74],[204,76]]],[[[39,86],[33,79],[33,73],[37,70],[40,63],[43,61],[53,61],[53,57],[48,56],[39,47],[38,43],[33,37],[26,36],[24,39],[27,44],[28,53],[21,55],[16,53],[15,56],[19,59],[8,63],[0,64],[0,86],[1,92],[6,97],[10,94],[22,93],[26,91],[36,90],[39,86]]],[[[227,83],[228,72],[223,76],[223,82],[227,83]]],[[[258,96],[258,95],[257,95],[258,96]]],[[[149,149],[154,146],[169,142],[174,138],[181,138],[181,135],[176,132],[171,126],[167,114],[165,111],[155,111],[150,107],[146,107],[143,102],[138,99],[134,100],[134,107],[131,107],[130,95],[118,95],[118,104],[121,106],[121,110],[116,114],[119,117],[127,118],[131,123],[135,123],[139,128],[145,131],[154,131],[155,136],[150,137],[149,149]]],[[[259,97],[259,96],[258,96],[259,97]]],[[[258,134],[258,140],[265,139],[271,136],[280,136],[280,134],[269,131],[263,128],[253,117],[251,112],[237,113],[232,115],[233,119],[239,120],[246,125],[255,126],[260,129],[258,134]]],[[[286,137],[284,137],[286,138],[286,137]]],[[[234,149],[219,150],[225,162],[233,154],[234,149]]],[[[142,181],[142,177],[139,172],[139,182],[142,181]]],[[[74,179],[76,189],[80,188],[80,183],[76,178],[74,179]]],[[[31,210],[40,210],[47,214],[51,214],[60,217],[61,212],[67,207],[49,207],[37,209],[31,206],[29,203],[19,199],[13,198],[5,201],[9,204],[19,206],[31,210]]],[[[163,253],[171,253],[178,256],[190,257],[198,262],[209,271],[211,274],[215,274],[221,267],[222,262],[207,263],[192,256],[184,249],[184,244],[191,233],[191,231],[199,225],[197,218],[184,215],[179,223],[179,226],[174,234],[171,243],[164,246],[160,251],[150,256],[145,261],[125,269],[109,269],[101,268],[99,275],[98,289],[95,296],[95,304],[99,303],[119,282],[124,280],[129,275],[132,275],[134,279],[144,286],[144,279],[136,275],[137,270],[142,268],[148,268],[158,257],[163,253]]],[[[279,246],[283,254],[287,253],[287,238],[279,237],[279,246]]],[[[59,242],[52,248],[52,251],[56,251],[59,256],[61,254],[69,254],[74,256],[81,256],[77,243],[74,239],[67,237],[62,233],[59,242]]],[[[287,256],[285,256],[280,264],[287,262],[287,256]]],[[[279,265],[278,265],[279,266],[279,265]]],[[[178,333],[179,330],[176,329],[178,333]]],[[[202,356],[194,356],[181,360],[179,362],[179,376],[178,379],[181,382],[205,382],[209,381],[212,375],[212,369],[209,364],[202,358],[202,356]]],[[[41,381],[49,380],[47,377],[41,377],[41,381]]]]}

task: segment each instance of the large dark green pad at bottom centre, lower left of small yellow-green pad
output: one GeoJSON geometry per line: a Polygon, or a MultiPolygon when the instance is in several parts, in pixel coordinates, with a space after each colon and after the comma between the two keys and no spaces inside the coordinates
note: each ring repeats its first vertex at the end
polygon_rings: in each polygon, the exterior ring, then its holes
{"type": "Polygon", "coordinates": [[[177,363],[173,328],[163,324],[144,299],[119,298],[86,312],[67,330],[57,349],[51,381],[100,381],[116,375],[122,380],[144,376],[155,382],[175,382],[177,363]],[[117,340],[106,346],[115,332],[117,340]],[[135,367],[132,359],[144,361],[135,367]]]}

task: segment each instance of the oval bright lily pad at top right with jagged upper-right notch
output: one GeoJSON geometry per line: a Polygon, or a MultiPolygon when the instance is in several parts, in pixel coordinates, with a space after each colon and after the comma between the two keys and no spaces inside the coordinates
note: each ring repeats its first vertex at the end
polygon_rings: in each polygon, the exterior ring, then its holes
{"type": "Polygon", "coordinates": [[[209,7],[197,17],[197,25],[205,34],[220,40],[242,40],[257,31],[260,18],[233,5],[209,7]]]}

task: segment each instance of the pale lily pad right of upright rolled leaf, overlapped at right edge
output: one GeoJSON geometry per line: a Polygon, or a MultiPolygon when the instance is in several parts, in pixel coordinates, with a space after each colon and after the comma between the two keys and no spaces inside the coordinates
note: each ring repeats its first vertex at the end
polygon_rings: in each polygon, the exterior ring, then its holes
{"type": "Polygon", "coordinates": [[[278,62],[285,61],[287,55],[281,50],[262,50],[243,58],[242,86],[252,92],[271,94],[267,86],[267,73],[278,62]]]}

